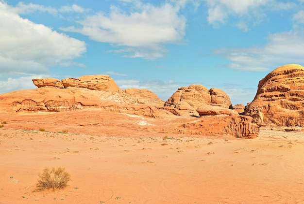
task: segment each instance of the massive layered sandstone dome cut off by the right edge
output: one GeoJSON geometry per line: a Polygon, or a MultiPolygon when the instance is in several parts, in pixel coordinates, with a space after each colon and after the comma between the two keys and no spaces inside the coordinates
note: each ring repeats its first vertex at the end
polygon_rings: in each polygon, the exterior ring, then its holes
{"type": "Polygon", "coordinates": [[[289,64],[260,80],[245,110],[259,125],[304,126],[304,67],[289,64]]]}

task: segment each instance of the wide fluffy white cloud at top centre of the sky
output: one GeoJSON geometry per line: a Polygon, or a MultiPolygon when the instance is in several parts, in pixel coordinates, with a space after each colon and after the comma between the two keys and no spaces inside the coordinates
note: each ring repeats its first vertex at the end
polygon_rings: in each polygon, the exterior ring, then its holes
{"type": "Polygon", "coordinates": [[[185,35],[186,19],[179,14],[180,4],[157,7],[136,1],[136,11],[129,14],[112,6],[110,13],[98,13],[78,21],[80,27],[62,28],[78,32],[101,43],[110,43],[131,58],[159,58],[164,44],[180,43],[185,35]]]}

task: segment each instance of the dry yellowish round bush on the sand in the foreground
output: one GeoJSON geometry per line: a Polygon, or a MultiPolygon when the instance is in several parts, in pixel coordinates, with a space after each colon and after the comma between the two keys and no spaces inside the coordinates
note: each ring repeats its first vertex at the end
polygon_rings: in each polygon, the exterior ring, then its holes
{"type": "Polygon", "coordinates": [[[50,170],[45,168],[42,174],[39,174],[38,183],[36,184],[37,190],[44,189],[64,189],[68,185],[70,175],[65,168],[54,167],[50,170]]]}

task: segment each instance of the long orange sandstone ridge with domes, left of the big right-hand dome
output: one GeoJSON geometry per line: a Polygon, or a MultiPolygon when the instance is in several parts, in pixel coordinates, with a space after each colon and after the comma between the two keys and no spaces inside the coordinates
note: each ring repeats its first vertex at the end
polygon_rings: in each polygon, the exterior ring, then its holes
{"type": "MultiPolygon", "coordinates": [[[[62,80],[33,79],[33,82],[38,88],[0,94],[1,116],[15,117],[11,121],[20,121],[16,122],[19,128],[23,127],[24,121],[33,119],[37,120],[32,124],[35,127],[43,118],[72,125],[81,124],[79,120],[86,116],[83,123],[91,124],[91,120],[96,120],[96,114],[101,116],[109,113],[108,120],[94,122],[99,124],[95,129],[102,127],[102,131],[105,131],[105,127],[123,126],[124,129],[118,130],[239,138],[253,138],[259,133],[258,126],[252,123],[253,118],[239,116],[238,112],[232,110],[229,96],[218,88],[207,90],[201,85],[181,87],[165,102],[147,89],[122,90],[108,75],[86,75],[62,80]],[[115,119],[118,118],[117,114],[123,114],[119,117],[125,119],[115,119]],[[67,117],[74,119],[68,122],[67,117]],[[138,117],[152,121],[138,121],[138,117]]],[[[90,128],[92,126],[86,130],[90,128]]],[[[109,132],[116,131],[111,129],[109,132]]]]}

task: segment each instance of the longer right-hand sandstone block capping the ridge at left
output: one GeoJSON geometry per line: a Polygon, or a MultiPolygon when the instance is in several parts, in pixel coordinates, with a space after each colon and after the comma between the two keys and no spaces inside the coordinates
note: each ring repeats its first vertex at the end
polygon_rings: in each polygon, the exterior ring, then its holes
{"type": "Polygon", "coordinates": [[[103,90],[116,92],[120,88],[114,82],[114,80],[108,75],[84,75],[75,78],[67,78],[61,80],[64,87],[77,87],[77,88],[87,88],[91,90],[103,90]]]}

